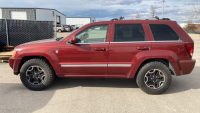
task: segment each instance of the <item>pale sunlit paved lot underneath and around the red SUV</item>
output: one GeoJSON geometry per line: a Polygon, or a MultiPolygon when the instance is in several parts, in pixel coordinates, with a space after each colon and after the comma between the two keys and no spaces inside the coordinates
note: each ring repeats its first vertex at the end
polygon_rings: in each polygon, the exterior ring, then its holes
{"type": "Polygon", "coordinates": [[[148,95],[129,79],[65,78],[45,91],[30,91],[8,63],[0,63],[0,113],[199,113],[200,35],[190,35],[196,66],[190,75],[173,77],[161,95],[148,95]]]}

